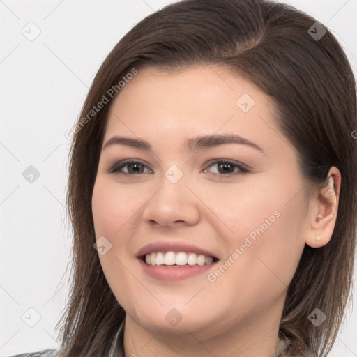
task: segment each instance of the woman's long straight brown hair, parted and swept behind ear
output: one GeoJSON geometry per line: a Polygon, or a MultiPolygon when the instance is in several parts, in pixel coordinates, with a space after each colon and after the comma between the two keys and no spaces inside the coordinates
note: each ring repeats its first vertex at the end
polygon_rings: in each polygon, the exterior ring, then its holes
{"type": "Polygon", "coordinates": [[[354,266],[356,84],[339,43],[316,22],[282,3],[186,0],[146,17],[109,53],[93,80],[70,147],[66,198],[73,255],[70,297],[59,321],[62,357],[105,356],[125,317],[93,248],[91,211],[107,113],[120,93],[118,84],[144,66],[180,70],[201,63],[227,66],[271,96],[280,129],[298,152],[307,182],[326,185],[333,165],[341,172],[333,236],[322,248],[305,245],[289,284],[279,331],[307,356],[326,356],[330,351],[344,317],[354,266]],[[113,88],[115,93],[109,91],[113,88]],[[104,97],[107,103],[91,112],[104,97]],[[315,308],[326,315],[320,327],[308,319],[315,308]]]}

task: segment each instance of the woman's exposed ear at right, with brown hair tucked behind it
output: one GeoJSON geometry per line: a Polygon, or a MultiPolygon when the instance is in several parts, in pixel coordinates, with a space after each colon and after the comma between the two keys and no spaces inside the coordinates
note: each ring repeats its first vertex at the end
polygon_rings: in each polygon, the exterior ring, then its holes
{"type": "Polygon", "coordinates": [[[335,228],[341,187],[339,169],[332,166],[327,178],[324,187],[314,190],[310,197],[307,217],[310,220],[310,229],[307,231],[305,242],[312,248],[326,245],[331,240],[335,228]]]}

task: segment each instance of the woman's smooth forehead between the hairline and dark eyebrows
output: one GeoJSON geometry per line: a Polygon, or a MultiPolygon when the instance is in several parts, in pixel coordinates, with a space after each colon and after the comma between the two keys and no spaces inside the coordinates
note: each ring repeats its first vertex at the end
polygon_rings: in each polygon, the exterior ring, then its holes
{"type": "Polygon", "coordinates": [[[280,132],[272,98],[228,68],[210,65],[139,69],[111,103],[103,143],[120,135],[164,151],[217,133],[250,139],[268,155],[296,155],[280,132]]]}

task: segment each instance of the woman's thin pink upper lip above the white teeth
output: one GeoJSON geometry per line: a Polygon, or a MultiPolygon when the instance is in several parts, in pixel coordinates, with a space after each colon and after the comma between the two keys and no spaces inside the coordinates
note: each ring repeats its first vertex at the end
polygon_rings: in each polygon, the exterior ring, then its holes
{"type": "Polygon", "coordinates": [[[147,245],[144,245],[144,247],[140,248],[139,251],[137,252],[137,257],[142,257],[143,255],[147,255],[151,252],[192,252],[196,254],[203,254],[206,255],[206,257],[213,257],[215,259],[218,259],[212,252],[209,252],[208,250],[196,247],[195,245],[190,245],[187,243],[181,243],[181,242],[153,242],[149,243],[147,245]]]}

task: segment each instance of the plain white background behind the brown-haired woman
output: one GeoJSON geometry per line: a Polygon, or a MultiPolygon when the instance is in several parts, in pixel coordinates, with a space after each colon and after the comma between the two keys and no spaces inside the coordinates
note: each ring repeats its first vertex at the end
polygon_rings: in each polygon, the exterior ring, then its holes
{"type": "MultiPolygon", "coordinates": [[[[59,347],[54,326],[66,299],[71,244],[65,132],[109,51],[139,20],[172,2],[0,0],[1,356],[59,347]],[[40,29],[33,41],[22,34],[34,26],[29,22],[40,29]],[[33,183],[22,176],[30,165],[40,172],[33,183]],[[35,321],[29,308],[40,314],[33,327],[22,319],[35,321]]],[[[357,0],[289,2],[335,33],[356,75],[357,0]]],[[[357,356],[356,330],[355,308],[331,357],[357,356]]]]}

